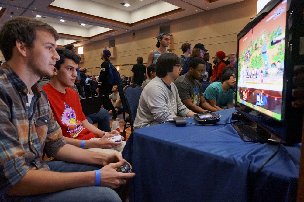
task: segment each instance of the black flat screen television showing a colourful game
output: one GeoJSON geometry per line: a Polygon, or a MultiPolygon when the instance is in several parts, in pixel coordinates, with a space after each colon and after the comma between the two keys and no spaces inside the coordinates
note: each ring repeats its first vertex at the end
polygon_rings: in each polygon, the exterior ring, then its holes
{"type": "Polygon", "coordinates": [[[304,64],[303,11],[301,0],[272,0],[237,35],[236,110],[285,143],[302,137],[292,78],[304,64]]]}

